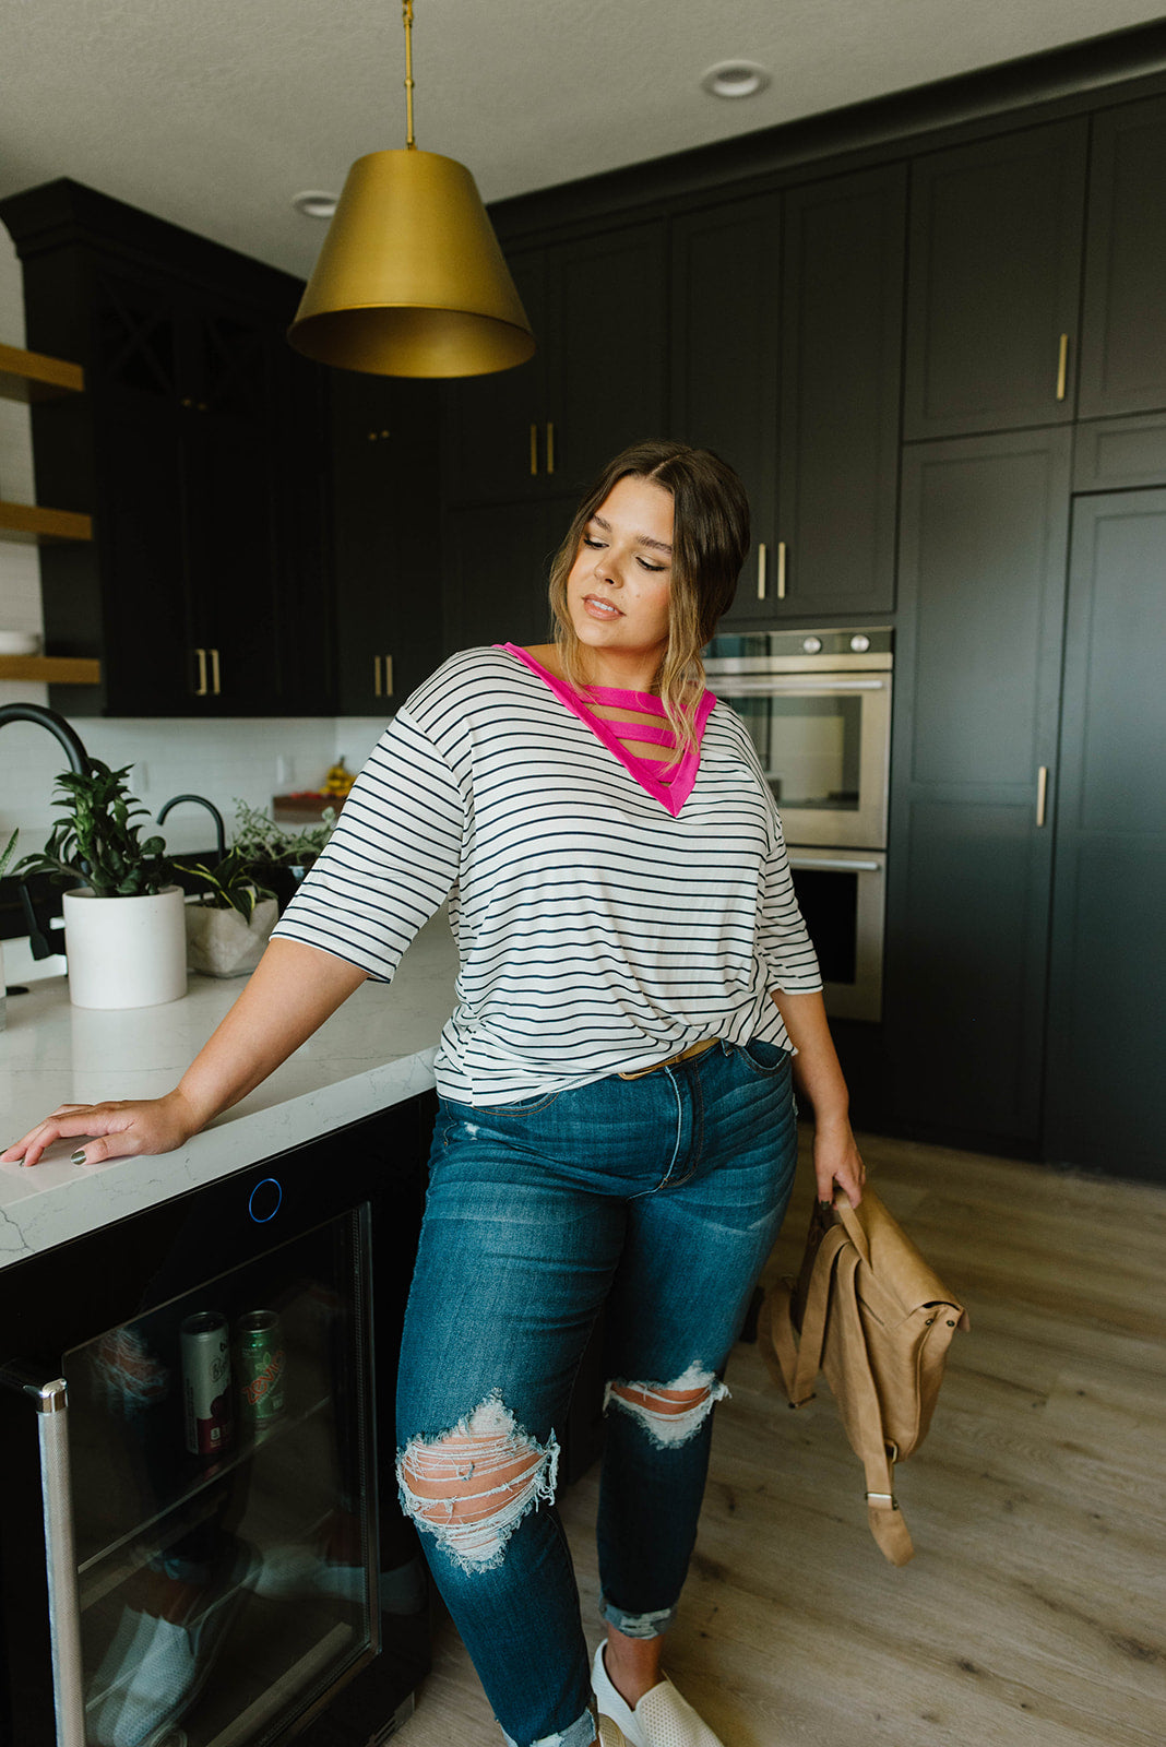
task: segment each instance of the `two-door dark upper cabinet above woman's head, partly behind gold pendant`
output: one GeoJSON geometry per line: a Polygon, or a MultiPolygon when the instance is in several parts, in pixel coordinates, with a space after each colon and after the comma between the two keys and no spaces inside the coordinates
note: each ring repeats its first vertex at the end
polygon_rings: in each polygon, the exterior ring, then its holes
{"type": "Polygon", "coordinates": [[[450,391],[449,496],[503,503],[580,494],[665,426],[663,224],[508,253],[538,349],[450,391]]]}

